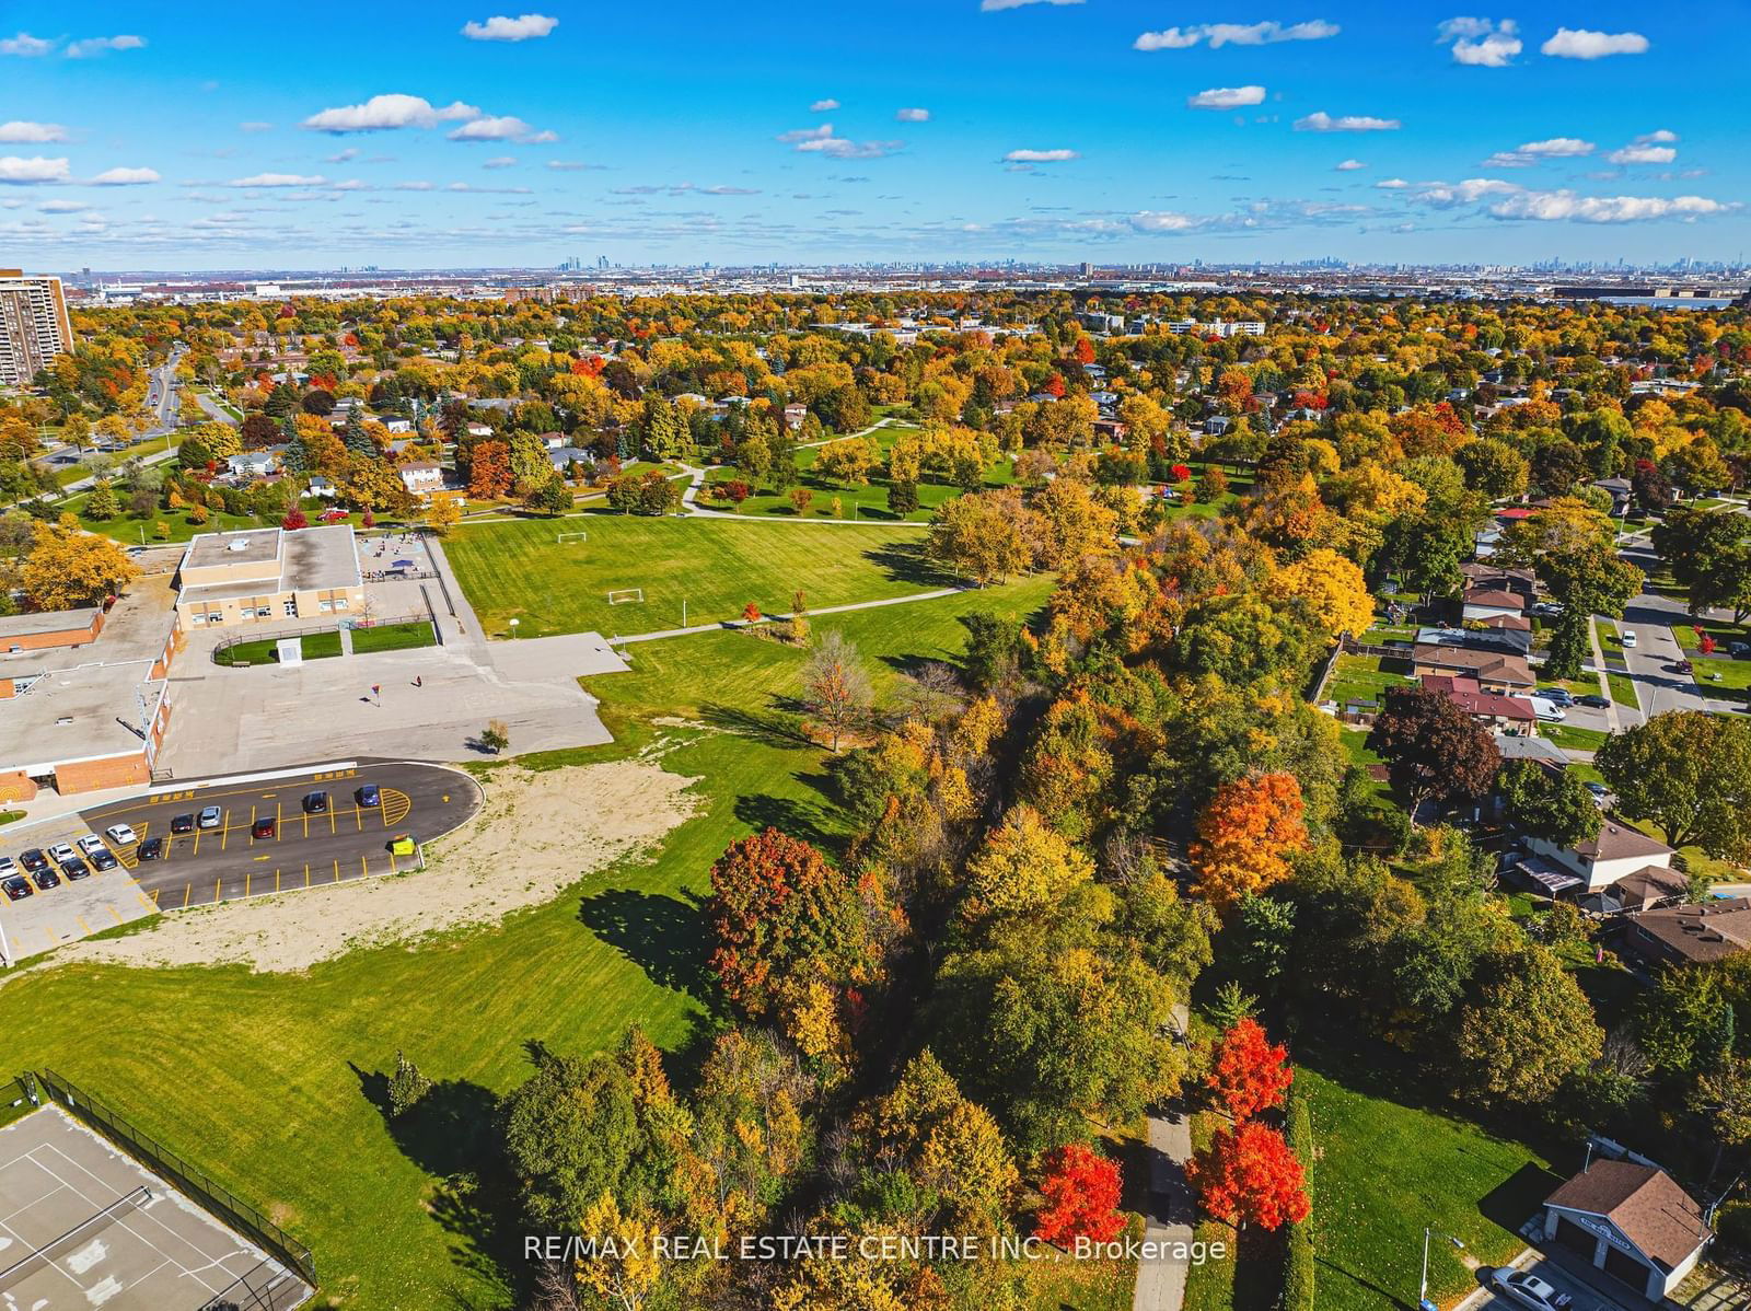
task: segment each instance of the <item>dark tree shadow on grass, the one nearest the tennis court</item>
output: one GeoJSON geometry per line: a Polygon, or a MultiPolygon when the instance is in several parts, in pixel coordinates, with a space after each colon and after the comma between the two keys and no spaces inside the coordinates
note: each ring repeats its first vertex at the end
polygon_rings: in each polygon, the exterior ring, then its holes
{"type": "MultiPolygon", "coordinates": [[[[450,1258],[489,1285],[515,1286],[520,1234],[513,1216],[499,1136],[499,1097],[469,1080],[436,1080],[420,1101],[401,1115],[389,1111],[389,1071],[368,1071],[348,1062],[359,1090],[383,1117],[383,1127],[401,1153],[431,1176],[424,1206],[452,1236],[450,1258]]],[[[457,1306],[473,1306],[464,1288],[447,1290],[457,1306]]]]}

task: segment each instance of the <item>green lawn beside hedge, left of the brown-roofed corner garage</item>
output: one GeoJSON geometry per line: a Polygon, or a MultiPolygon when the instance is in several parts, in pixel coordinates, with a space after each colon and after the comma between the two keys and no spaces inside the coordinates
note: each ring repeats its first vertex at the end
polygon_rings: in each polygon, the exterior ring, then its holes
{"type": "MultiPolygon", "coordinates": [[[[1296,1057],[1317,1152],[1319,1311],[1415,1306],[1424,1225],[1453,1234],[1485,1265],[1525,1246],[1515,1229],[1558,1183],[1537,1152],[1429,1104],[1439,1085],[1385,1048],[1355,1059],[1304,1043],[1296,1057]]],[[[1452,1302],[1474,1286],[1459,1253],[1432,1243],[1431,1299],[1452,1302]]]]}

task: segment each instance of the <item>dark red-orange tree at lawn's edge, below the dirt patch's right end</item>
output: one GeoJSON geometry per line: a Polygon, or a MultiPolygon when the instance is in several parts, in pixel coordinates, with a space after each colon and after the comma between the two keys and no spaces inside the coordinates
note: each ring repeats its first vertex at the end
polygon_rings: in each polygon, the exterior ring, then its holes
{"type": "Polygon", "coordinates": [[[837,977],[856,942],[846,877],[802,838],[767,828],[711,866],[711,968],[730,1005],[765,1017],[791,978],[837,977]]]}

